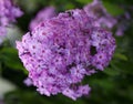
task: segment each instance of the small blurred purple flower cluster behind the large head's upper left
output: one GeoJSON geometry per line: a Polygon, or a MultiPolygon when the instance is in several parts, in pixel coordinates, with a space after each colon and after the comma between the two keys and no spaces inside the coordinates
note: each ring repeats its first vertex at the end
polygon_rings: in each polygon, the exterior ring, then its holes
{"type": "Polygon", "coordinates": [[[30,30],[33,30],[34,27],[37,27],[40,22],[42,22],[47,19],[51,19],[53,17],[55,17],[54,7],[47,7],[47,8],[42,9],[41,11],[39,11],[37,17],[30,22],[30,30]]]}

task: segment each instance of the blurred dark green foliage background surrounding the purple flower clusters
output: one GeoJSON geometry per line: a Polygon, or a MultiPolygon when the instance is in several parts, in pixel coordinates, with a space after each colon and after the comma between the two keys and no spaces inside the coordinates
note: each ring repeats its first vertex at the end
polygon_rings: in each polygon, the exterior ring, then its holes
{"type": "MultiPolygon", "coordinates": [[[[14,0],[24,11],[14,29],[0,45],[0,104],[133,104],[133,22],[123,37],[115,37],[116,51],[110,65],[103,71],[86,76],[92,91],[89,96],[72,101],[61,94],[47,97],[35,87],[25,86],[28,72],[18,58],[16,40],[28,31],[30,20],[39,10],[54,6],[58,12],[82,8],[92,0],[14,0]]],[[[103,0],[112,15],[124,13],[120,6],[132,7],[133,0],[103,0]]],[[[133,13],[133,12],[131,12],[133,13]]]]}

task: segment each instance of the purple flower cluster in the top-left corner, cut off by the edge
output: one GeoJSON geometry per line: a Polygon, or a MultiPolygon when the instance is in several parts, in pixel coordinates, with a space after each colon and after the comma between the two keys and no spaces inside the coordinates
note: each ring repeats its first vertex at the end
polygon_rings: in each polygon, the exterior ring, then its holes
{"type": "Polygon", "coordinates": [[[12,0],[0,0],[0,35],[4,35],[6,27],[16,22],[16,18],[21,15],[22,11],[13,4],[12,0]]]}

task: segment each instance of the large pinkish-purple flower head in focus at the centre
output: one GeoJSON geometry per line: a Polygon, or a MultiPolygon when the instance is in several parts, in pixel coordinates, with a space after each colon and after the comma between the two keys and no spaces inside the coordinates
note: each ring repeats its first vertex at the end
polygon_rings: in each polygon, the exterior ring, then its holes
{"type": "Polygon", "coordinates": [[[19,58],[29,71],[37,91],[76,100],[88,95],[81,82],[109,64],[115,41],[112,34],[95,27],[83,10],[70,10],[41,22],[17,42],[19,58]]]}

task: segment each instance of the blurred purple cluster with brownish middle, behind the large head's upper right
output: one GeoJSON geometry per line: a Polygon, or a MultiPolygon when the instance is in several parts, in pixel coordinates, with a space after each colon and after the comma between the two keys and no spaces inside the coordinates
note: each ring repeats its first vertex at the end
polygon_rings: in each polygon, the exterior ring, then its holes
{"type": "Polygon", "coordinates": [[[96,20],[98,27],[112,29],[117,22],[117,20],[106,11],[101,0],[93,0],[92,3],[89,3],[83,9],[89,17],[96,20]]]}

